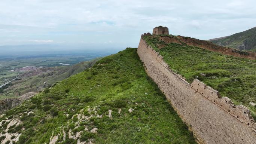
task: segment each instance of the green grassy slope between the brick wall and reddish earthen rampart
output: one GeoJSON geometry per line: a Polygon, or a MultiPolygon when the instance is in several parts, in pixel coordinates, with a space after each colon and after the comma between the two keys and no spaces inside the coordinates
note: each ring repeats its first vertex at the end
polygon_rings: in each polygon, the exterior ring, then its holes
{"type": "Polygon", "coordinates": [[[256,102],[256,60],[222,55],[186,43],[166,43],[159,37],[144,36],[144,39],[164,57],[172,70],[189,83],[199,79],[235,104],[246,105],[256,119],[256,107],[249,104],[256,102]]]}

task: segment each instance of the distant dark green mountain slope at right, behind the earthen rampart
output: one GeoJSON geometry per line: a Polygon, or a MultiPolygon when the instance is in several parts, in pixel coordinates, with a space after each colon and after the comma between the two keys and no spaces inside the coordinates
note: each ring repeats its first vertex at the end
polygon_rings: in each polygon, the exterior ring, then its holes
{"type": "Polygon", "coordinates": [[[234,49],[256,51],[256,27],[231,36],[210,39],[208,41],[234,49]]]}

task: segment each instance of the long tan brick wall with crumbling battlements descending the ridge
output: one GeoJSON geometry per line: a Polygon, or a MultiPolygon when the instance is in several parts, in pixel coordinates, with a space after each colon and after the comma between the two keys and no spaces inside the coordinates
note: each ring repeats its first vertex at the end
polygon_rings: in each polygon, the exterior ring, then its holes
{"type": "Polygon", "coordinates": [[[199,80],[191,84],[174,73],[141,37],[137,53],[199,144],[255,144],[256,124],[250,110],[234,105],[199,80]]]}

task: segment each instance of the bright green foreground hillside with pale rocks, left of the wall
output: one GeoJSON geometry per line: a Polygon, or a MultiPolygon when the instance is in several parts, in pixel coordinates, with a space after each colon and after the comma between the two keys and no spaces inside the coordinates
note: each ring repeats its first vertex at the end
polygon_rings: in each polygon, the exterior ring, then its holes
{"type": "Polygon", "coordinates": [[[195,144],[136,50],[107,56],[8,111],[0,118],[0,141],[20,132],[16,144],[195,144]],[[21,123],[8,128],[6,119],[21,123]]]}

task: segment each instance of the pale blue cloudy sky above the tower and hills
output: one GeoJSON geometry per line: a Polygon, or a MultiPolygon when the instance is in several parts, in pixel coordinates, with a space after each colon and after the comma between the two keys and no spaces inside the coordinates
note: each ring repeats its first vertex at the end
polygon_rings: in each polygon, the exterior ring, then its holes
{"type": "Polygon", "coordinates": [[[212,39],[256,27],[255,0],[1,0],[1,45],[137,47],[156,26],[212,39]]]}

